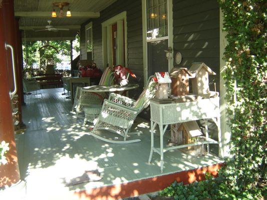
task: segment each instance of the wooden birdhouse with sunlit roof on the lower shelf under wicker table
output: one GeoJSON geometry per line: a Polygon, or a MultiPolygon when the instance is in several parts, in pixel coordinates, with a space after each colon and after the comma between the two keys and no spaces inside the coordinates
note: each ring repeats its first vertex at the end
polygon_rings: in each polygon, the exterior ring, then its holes
{"type": "MultiPolygon", "coordinates": [[[[202,132],[196,121],[183,122],[180,124],[180,126],[178,126],[177,130],[182,132],[184,144],[193,143],[193,137],[202,135],[202,132]]],[[[187,148],[190,149],[192,146],[188,146],[187,148]]]]}

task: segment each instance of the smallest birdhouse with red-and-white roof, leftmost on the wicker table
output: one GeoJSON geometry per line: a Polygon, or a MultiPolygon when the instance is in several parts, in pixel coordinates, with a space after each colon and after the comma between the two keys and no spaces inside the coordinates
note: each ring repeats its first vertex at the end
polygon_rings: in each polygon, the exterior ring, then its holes
{"type": "Polygon", "coordinates": [[[169,72],[156,72],[157,90],[155,98],[167,99],[168,98],[168,83],[171,83],[169,72]]]}

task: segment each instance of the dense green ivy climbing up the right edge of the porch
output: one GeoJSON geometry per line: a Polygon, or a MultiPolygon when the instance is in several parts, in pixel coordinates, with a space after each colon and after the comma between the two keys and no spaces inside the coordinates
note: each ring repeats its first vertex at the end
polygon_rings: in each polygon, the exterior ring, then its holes
{"type": "MultiPolygon", "coordinates": [[[[218,178],[197,184],[198,189],[202,188],[199,192],[209,191],[209,196],[192,194],[190,199],[263,199],[267,174],[267,2],[223,0],[219,3],[224,14],[223,30],[227,33],[222,76],[227,88],[225,100],[233,157],[220,169],[218,178]],[[210,184],[215,185],[211,191],[210,184]]],[[[176,199],[183,198],[189,199],[187,194],[176,199]]]]}

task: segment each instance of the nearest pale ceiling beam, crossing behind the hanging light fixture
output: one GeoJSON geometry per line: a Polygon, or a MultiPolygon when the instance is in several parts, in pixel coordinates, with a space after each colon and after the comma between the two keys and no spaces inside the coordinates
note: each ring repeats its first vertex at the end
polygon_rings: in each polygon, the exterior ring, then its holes
{"type": "MultiPolygon", "coordinates": [[[[71,11],[72,16],[63,16],[68,18],[98,18],[100,12],[75,12],[71,11]]],[[[27,17],[51,17],[52,11],[33,11],[33,12],[15,12],[15,16],[27,17]]]]}

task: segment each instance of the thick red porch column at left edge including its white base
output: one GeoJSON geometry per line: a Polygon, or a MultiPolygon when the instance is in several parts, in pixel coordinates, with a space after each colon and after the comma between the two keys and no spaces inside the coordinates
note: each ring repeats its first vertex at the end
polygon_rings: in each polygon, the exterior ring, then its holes
{"type": "MultiPolygon", "coordinates": [[[[6,50],[5,43],[15,46],[13,37],[7,37],[15,31],[14,3],[13,0],[0,0],[0,142],[5,140],[10,149],[5,154],[8,162],[0,164],[0,199],[18,199],[25,193],[25,182],[21,180],[16,142],[14,136],[14,125],[12,117],[12,106],[10,90],[13,89],[13,71],[11,66],[11,50],[6,50]],[[14,28],[11,28],[13,26],[14,28]],[[11,41],[13,39],[13,42],[11,41]]],[[[15,49],[15,48],[14,48],[15,49]]]]}

